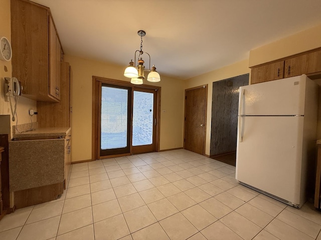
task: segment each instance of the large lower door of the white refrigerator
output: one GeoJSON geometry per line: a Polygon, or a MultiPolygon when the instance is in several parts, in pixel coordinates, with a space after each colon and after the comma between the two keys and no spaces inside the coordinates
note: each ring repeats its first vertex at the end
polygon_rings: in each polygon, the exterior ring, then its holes
{"type": "MultiPolygon", "coordinates": [[[[299,204],[303,116],[243,116],[237,143],[236,179],[299,204]]],[[[303,178],[302,178],[303,179],[303,178]]],[[[304,180],[304,179],[303,179],[304,180]]]]}

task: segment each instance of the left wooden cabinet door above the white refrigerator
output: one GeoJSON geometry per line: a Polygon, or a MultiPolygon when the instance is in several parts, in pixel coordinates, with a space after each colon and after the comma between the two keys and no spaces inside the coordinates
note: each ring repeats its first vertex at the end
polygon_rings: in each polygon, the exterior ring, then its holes
{"type": "Polygon", "coordinates": [[[251,84],[283,78],[284,61],[251,68],[251,84]]]}

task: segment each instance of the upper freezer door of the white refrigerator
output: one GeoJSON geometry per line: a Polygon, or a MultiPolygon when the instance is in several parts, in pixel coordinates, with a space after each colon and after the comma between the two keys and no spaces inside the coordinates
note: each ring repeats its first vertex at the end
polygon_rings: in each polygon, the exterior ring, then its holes
{"type": "Polygon", "coordinates": [[[239,115],[304,115],[306,79],[300,75],[241,86],[239,115]]]}

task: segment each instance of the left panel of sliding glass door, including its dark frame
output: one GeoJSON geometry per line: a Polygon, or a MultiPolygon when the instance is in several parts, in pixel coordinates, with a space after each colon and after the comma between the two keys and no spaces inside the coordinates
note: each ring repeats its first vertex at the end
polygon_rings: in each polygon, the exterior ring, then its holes
{"type": "Polygon", "coordinates": [[[101,87],[101,155],[129,152],[130,95],[126,87],[101,87]]]}

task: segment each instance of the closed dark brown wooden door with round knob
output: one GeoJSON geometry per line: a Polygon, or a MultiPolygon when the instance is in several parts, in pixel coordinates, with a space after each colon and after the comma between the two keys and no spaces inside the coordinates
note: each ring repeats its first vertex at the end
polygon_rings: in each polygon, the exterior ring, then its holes
{"type": "Polygon", "coordinates": [[[184,148],[205,154],[207,84],[185,90],[184,148]]]}

